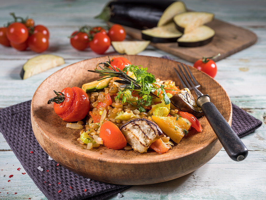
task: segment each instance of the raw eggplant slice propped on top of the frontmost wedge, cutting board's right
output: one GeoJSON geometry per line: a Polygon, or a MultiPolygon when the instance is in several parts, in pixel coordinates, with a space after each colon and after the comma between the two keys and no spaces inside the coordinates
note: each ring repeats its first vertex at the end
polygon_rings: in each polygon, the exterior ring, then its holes
{"type": "Polygon", "coordinates": [[[213,13],[207,12],[185,12],[174,16],[177,30],[188,33],[199,26],[211,22],[214,18],[213,13]]]}

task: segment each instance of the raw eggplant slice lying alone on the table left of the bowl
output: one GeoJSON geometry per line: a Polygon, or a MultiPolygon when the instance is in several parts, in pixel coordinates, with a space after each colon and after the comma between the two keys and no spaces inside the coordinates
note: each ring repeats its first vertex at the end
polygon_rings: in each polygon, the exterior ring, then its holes
{"type": "Polygon", "coordinates": [[[51,69],[53,67],[64,64],[64,58],[52,55],[52,54],[43,54],[35,56],[29,59],[20,71],[20,77],[26,79],[32,75],[39,74],[43,71],[51,69]]]}

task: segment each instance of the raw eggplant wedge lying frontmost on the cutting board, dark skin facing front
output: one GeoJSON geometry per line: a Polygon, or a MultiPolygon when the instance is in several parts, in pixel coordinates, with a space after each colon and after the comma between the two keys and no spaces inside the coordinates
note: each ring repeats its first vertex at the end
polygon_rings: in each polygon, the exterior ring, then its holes
{"type": "Polygon", "coordinates": [[[177,39],[178,46],[197,47],[211,42],[215,31],[208,26],[200,26],[189,33],[185,33],[177,39]]]}

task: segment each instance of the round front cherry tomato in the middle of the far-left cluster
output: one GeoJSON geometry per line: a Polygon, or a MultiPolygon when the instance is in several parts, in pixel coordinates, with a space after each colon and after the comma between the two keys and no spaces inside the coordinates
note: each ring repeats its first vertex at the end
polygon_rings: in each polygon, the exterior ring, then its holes
{"type": "Polygon", "coordinates": [[[14,22],[7,27],[6,36],[10,42],[19,44],[28,39],[29,31],[23,23],[14,22]]]}

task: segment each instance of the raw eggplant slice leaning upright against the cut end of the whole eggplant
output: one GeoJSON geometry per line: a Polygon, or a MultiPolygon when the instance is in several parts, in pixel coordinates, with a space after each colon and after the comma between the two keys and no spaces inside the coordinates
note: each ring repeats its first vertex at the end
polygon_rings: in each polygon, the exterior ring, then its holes
{"type": "Polygon", "coordinates": [[[160,17],[157,26],[163,26],[173,20],[178,13],[186,12],[186,5],[182,1],[176,1],[168,6],[160,17]]]}

